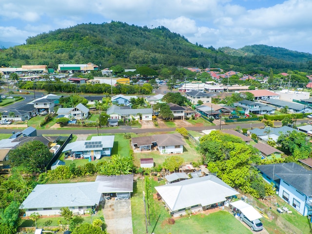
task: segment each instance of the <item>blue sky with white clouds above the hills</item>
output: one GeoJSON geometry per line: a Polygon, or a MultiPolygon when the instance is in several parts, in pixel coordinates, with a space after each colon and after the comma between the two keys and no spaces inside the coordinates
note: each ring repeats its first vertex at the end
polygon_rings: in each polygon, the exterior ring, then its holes
{"type": "Polygon", "coordinates": [[[81,23],[164,26],[214,48],[265,44],[312,53],[312,0],[0,0],[0,41],[81,23]]]}

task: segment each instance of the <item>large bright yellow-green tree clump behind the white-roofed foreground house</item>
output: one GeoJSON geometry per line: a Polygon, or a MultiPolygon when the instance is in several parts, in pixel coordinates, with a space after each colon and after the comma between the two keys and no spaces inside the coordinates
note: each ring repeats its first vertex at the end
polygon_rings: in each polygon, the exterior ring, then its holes
{"type": "Polygon", "coordinates": [[[225,183],[257,198],[266,195],[262,178],[253,166],[260,163],[258,151],[241,138],[212,131],[200,138],[199,150],[209,171],[225,183]]]}

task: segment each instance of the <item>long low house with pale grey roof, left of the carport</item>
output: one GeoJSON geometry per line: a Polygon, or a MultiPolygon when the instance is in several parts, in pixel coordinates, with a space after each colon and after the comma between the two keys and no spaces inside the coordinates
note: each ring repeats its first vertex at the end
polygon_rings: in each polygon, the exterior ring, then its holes
{"type": "Polygon", "coordinates": [[[59,215],[62,207],[68,207],[73,214],[83,215],[95,209],[103,200],[98,192],[99,182],[66,184],[38,184],[20,205],[26,216],[59,215]]]}

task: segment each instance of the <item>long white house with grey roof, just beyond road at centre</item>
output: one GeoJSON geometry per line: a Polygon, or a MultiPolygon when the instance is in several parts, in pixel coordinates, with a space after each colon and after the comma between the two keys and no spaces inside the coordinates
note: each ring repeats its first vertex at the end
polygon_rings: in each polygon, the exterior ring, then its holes
{"type": "Polygon", "coordinates": [[[122,119],[124,121],[131,121],[133,118],[136,120],[149,121],[152,120],[153,109],[132,109],[130,106],[112,105],[107,109],[106,114],[109,115],[110,118],[122,119]]]}

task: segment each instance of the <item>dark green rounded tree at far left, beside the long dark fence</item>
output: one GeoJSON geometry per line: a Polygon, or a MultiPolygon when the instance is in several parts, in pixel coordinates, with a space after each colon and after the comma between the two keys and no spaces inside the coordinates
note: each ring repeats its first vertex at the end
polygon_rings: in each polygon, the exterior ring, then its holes
{"type": "Polygon", "coordinates": [[[28,172],[39,172],[52,158],[49,148],[39,140],[27,142],[10,151],[9,159],[13,167],[21,166],[28,172]]]}

